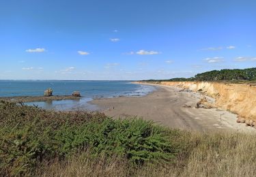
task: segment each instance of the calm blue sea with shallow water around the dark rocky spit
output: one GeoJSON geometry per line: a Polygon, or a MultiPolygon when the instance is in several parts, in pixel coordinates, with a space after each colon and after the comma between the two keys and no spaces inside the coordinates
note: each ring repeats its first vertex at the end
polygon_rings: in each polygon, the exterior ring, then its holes
{"type": "Polygon", "coordinates": [[[80,100],[37,101],[25,103],[48,110],[99,110],[89,101],[107,97],[142,97],[156,87],[134,84],[132,81],[72,81],[72,80],[0,80],[0,97],[41,96],[47,88],[53,95],[72,95],[79,91],[80,100]]]}

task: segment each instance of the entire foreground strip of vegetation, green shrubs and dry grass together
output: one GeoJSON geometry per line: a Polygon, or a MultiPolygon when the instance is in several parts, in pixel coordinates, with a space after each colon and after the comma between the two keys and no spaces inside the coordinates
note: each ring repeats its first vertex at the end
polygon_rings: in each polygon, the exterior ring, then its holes
{"type": "Polygon", "coordinates": [[[0,176],[255,176],[256,137],[0,103],[0,176]]]}

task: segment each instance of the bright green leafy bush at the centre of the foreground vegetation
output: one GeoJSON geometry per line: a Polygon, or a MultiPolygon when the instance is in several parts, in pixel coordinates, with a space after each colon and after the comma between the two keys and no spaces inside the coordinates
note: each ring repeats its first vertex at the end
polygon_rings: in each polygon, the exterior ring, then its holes
{"type": "Polygon", "coordinates": [[[171,160],[175,151],[163,129],[141,118],[106,118],[101,125],[89,123],[87,127],[94,129],[87,129],[89,146],[94,152],[126,155],[131,163],[171,160]]]}

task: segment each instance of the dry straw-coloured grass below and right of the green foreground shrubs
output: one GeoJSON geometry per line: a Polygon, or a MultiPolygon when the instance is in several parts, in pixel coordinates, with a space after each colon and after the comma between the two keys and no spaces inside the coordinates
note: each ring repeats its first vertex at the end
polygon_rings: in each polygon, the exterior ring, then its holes
{"type": "MultiPolygon", "coordinates": [[[[175,163],[132,167],[120,157],[89,152],[41,168],[40,176],[256,176],[255,135],[184,132],[175,163]]],[[[180,140],[177,140],[180,143],[180,140]]]]}

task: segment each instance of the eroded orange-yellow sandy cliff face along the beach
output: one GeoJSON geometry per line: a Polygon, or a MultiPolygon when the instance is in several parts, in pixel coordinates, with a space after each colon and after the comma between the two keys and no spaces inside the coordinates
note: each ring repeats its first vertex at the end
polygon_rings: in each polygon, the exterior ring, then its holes
{"type": "Polygon", "coordinates": [[[225,84],[217,82],[160,82],[179,86],[192,91],[200,91],[216,99],[215,108],[229,110],[239,118],[256,122],[256,87],[249,84],[225,84]]]}

